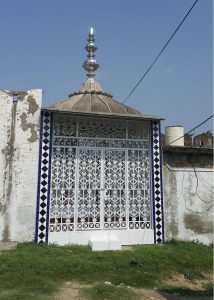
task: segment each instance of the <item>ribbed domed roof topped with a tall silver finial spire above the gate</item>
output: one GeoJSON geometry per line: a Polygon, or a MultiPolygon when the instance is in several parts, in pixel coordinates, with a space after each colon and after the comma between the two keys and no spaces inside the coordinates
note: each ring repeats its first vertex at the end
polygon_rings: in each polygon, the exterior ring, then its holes
{"type": "Polygon", "coordinates": [[[88,58],[84,62],[83,68],[88,72],[88,80],[82,84],[79,92],[70,94],[68,99],[49,108],[66,112],[142,116],[137,110],[114,100],[111,94],[103,92],[100,84],[94,80],[95,71],[99,68],[99,64],[94,55],[97,47],[94,43],[94,29],[92,27],[87,41],[85,49],[88,51],[88,58]]]}

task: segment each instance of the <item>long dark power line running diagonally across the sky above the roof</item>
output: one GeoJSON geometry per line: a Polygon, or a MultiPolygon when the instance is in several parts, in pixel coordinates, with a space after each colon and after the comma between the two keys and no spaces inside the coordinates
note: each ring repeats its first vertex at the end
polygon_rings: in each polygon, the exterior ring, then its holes
{"type": "Polygon", "coordinates": [[[150,67],[147,69],[147,71],[143,74],[143,76],[140,78],[140,80],[138,81],[138,83],[135,85],[135,87],[131,90],[131,92],[129,93],[129,95],[126,97],[126,99],[123,101],[123,103],[125,103],[128,98],[131,96],[131,94],[136,90],[136,88],[138,87],[138,85],[142,82],[142,80],[146,77],[146,75],[149,73],[149,71],[151,70],[151,68],[153,67],[153,65],[156,63],[156,61],[158,60],[158,58],[161,56],[161,54],[164,52],[164,50],[166,49],[166,47],[168,46],[168,44],[171,42],[172,38],[174,37],[174,35],[176,34],[176,32],[179,30],[179,28],[181,27],[181,25],[183,24],[183,22],[185,21],[185,19],[188,17],[188,15],[190,14],[191,10],[193,9],[193,7],[196,5],[196,3],[198,2],[198,0],[196,0],[193,5],[190,7],[190,9],[188,10],[188,12],[186,13],[186,15],[184,16],[184,18],[182,19],[182,21],[180,22],[180,24],[177,26],[177,28],[175,29],[175,31],[173,32],[173,34],[171,35],[171,37],[169,38],[169,40],[167,41],[167,43],[164,45],[164,47],[162,48],[162,50],[160,51],[160,53],[158,54],[158,56],[154,59],[154,61],[152,62],[152,64],[150,65],[150,67]]]}

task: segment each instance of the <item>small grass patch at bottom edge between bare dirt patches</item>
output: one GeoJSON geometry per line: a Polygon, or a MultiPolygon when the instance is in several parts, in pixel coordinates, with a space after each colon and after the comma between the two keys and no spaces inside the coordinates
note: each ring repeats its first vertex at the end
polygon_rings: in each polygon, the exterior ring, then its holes
{"type": "Polygon", "coordinates": [[[140,297],[126,287],[96,284],[90,288],[83,288],[80,295],[87,300],[140,300],[140,297]]]}

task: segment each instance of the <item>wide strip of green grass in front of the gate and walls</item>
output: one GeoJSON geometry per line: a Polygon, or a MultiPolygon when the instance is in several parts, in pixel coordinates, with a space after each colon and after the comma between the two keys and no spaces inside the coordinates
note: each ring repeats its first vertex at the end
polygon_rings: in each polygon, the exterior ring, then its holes
{"type": "Polygon", "coordinates": [[[60,284],[72,280],[146,288],[158,288],[174,272],[193,280],[212,272],[212,250],[200,243],[176,241],[112,252],[18,244],[14,250],[0,252],[0,300],[51,299],[60,284]]]}

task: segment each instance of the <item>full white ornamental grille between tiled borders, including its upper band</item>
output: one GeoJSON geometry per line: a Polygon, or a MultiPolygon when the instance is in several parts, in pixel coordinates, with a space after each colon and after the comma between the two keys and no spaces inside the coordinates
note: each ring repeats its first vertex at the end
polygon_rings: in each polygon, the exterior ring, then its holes
{"type": "Polygon", "coordinates": [[[150,126],[54,115],[50,232],[152,228],[150,126]]]}

